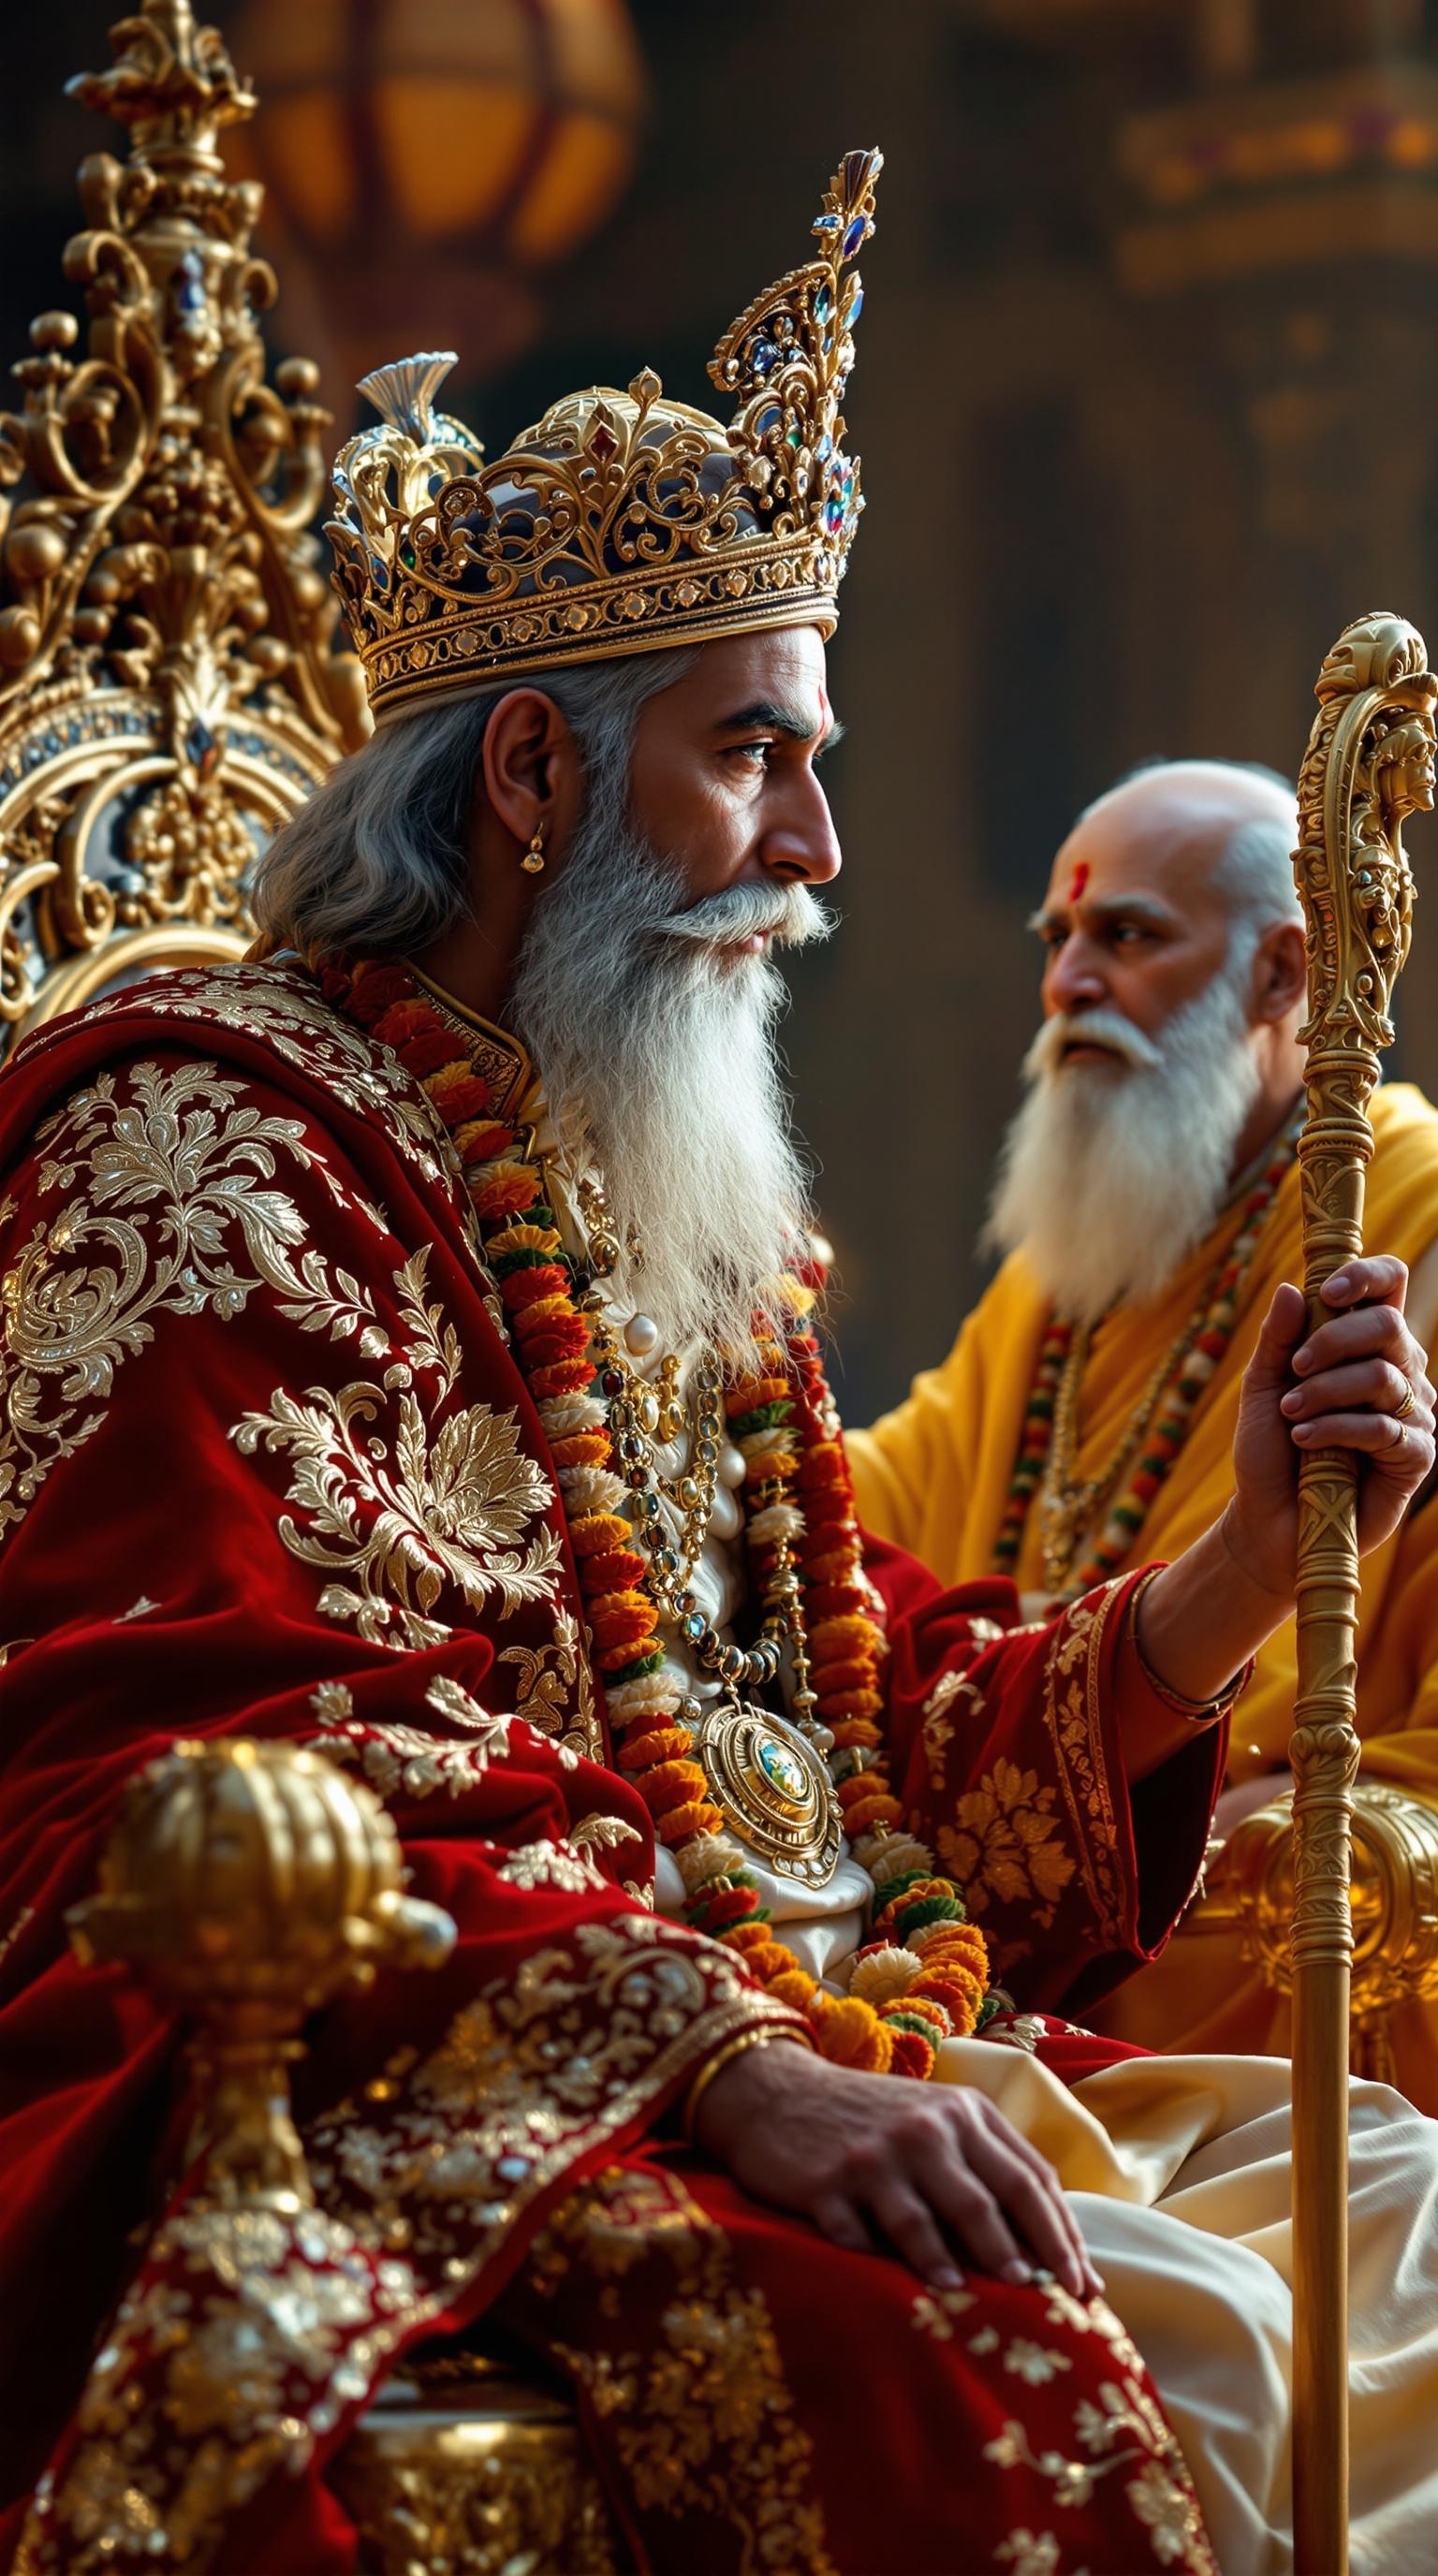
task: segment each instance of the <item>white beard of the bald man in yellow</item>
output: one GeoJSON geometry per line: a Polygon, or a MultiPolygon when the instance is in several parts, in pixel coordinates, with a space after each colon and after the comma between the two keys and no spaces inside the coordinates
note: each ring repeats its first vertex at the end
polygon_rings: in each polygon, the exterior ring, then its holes
{"type": "Polygon", "coordinates": [[[1046,1020],[1023,1072],[984,1239],[1023,1249],[1044,1296],[1077,1324],[1147,1306],[1203,1242],[1229,1193],[1258,1100],[1247,1046],[1252,953],[1232,956],[1155,1043],[1113,1010],[1046,1020]],[[1072,1038],[1111,1064],[1064,1064],[1072,1038]]]}

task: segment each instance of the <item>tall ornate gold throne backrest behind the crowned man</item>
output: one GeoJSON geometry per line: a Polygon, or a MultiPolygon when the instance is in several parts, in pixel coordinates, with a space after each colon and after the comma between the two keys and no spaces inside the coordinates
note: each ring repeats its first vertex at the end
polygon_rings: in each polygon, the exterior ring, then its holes
{"type": "Polygon", "coordinates": [[[95,992],[240,956],[268,835],[369,732],[309,533],[320,371],[265,381],[263,191],[219,134],[255,108],[191,0],[144,0],[70,82],[126,160],[80,165],[46,312],[0,415],[0,1054],[95,992]]]}

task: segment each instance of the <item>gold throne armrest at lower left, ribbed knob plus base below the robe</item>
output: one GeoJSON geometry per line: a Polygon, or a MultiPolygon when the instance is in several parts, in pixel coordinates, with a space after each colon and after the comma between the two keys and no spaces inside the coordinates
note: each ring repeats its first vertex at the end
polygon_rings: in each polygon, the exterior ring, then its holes
{"type": "MultiPolygon", "coordinates": [[[[374,1793],[296,1744],[175,1744],[129,1783],[82,1960],[121,1960],[191,2025],[219,2208],[309,2208],[289,2066],[309,2012],[379,1965],[441,1965],[454,1922],[402,1893],[374,1793]]],[[[479,2349],[407,2352],[350,2432],[335,2488],[376,2576],[621,2576],[570,2393],[479,2349]]]]}

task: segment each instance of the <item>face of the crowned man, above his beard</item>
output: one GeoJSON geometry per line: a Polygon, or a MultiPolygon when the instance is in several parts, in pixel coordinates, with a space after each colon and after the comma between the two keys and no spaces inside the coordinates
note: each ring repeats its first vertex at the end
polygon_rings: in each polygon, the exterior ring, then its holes
{"type": "Polygon", "coordinates": [[[817,762],[835,739],[817,626],[704,644],[639,711],[634,824],[678,863],[691,902],[737,884],[825,886],[840,845],[817,762]]]}

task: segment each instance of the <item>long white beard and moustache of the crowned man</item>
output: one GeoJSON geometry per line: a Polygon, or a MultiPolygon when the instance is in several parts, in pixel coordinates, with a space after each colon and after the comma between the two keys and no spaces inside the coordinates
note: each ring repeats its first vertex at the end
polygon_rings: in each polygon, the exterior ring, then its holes
{"type": "Polygon", "coordinates": [[[683,907],[683,878],[595,788],[521,951],[513,1018],[564,1144],[588,1151],[634,1298],[670,1350],[716,1342],[753,1360],[753,1316],[807,1224],[807,1170],[776,1048],[786,984],[734,943],[827,938],[807,886],[729,886],[683,907]]]}

